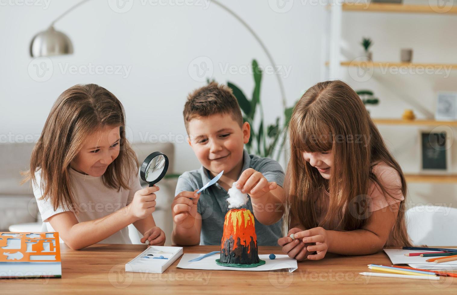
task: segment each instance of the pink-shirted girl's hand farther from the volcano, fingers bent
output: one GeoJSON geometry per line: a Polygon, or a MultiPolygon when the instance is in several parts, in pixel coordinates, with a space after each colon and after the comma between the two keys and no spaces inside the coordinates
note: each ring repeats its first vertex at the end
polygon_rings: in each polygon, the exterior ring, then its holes
{"type": "Polygon", "coordinates": [[[308,255],[309,260],[319,260],[324,258],[329,248],[329,237],[327,231],[322,227],[314,227],[303,232],[294,234],[296,239],[302,239],[304,243],[316,243],[307,247],[309,252],[317,251],[317,254],[308,255]]]}

